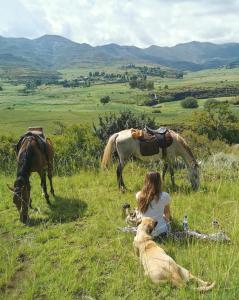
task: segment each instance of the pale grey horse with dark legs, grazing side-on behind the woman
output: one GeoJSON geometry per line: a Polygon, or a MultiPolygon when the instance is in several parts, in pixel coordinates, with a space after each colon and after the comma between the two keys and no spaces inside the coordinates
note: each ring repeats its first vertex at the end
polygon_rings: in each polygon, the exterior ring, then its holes
{"type": "Polygon", "coordinates": [[[158,154],[152,156],[142,156],[140,152],[140,141],[132,137],[131,129],[126,129],[120,132],[113,134],[105,147],[103,158],[102,158],[102,166],[107,167],[110,163],[112,153],[117,152],[119,158],[119,164],[117,167],[117,181],[119,188],[124,191],[126,186],[123,180],[123,168],[127,162],[127,160],[134,156],[141,160],[146,161],[156,161],[163,159],[165,164],[163,168],[163,179],[165,177],[165,173],[167,169],[170,171],[171,181],[173,186],[175,186],[174,182],[174,171],[173,171],[173,163],[177,156],[181,156],[185,161],[188,171],[189,171],[189,180],[191,186],[194,190],[199,187],[199,165],[196,159],[193,156],[193,153],[185,140],[175,131],[168,130],[171,137],[172,143],[166,150],[166,155],[164,155],[163,151],[159,151],[158,154]]]}

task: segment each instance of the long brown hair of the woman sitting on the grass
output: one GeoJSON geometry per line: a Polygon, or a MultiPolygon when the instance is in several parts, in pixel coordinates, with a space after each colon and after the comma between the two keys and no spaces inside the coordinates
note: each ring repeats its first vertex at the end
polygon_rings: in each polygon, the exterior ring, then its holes
{"type": "Polygon", "coordinates": [[[141,213],[145,213],[150,202],[162,192],[162,180],[159,172],[149,172],[144,179],[144,186],[140,191],[138,199],[138,209],[141,213]]]}

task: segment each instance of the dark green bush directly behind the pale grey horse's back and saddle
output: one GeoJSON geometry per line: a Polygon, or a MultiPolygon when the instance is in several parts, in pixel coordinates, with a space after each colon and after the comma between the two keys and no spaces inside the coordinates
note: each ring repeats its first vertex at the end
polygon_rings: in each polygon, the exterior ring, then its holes
{"type": "Polygon", "coordinates": [[[110,113],[103,117],[100,116],[98,127],[93,124],[93,128],[96,136],[105,143],[115,132],[128,128],[142,129],[145,125],[156,127],[154,118],[150,118],[144,113],[136,115],[131,111],[122,111],[118,115],[110,113]]]}

